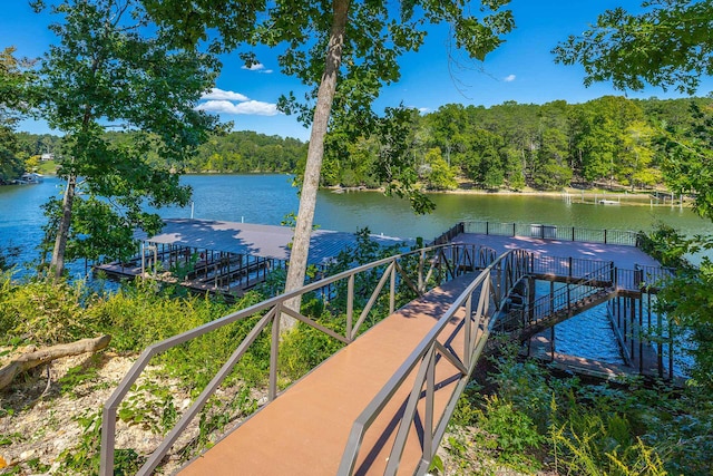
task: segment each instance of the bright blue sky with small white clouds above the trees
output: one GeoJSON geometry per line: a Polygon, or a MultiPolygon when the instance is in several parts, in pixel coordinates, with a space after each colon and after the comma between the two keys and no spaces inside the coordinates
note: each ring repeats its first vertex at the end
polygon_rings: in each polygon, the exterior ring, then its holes
{"type": "MultiPolygon", "coordinates": [[[[565,99],[584,103],[604,95],[623,95],[608,84],[583,86],[584,71],[579,66],[555,65],[550,50],[569,35],[578,35],[605,9],[624,7],[636,11],[639,1],[629,0],[512,0],[516,30],[506,42],[490,54],[485,62],[463,59],[466,68],[448,60],[448,28],[429,30],[426,45],[417,54],[401,58],[401,80],[385,87],[375,108],[416,107],[431,111],[449,103],[492,106],[506,100],[522,104],[544,104],[565,99]]],[[[0,48],[17,47],[17,55],[38,57],[53,41],[47,30],[49,16],[38,16],[25,0],[4,0],[0,16],[0,48]]],[[[258,50],[261,64],[246,69],[237,55],[223,58],[224,68],[216,88],[202,101],[203,108],[219,114],[223,120],[234,122],[236,130],[306,139],[309,130],[296,118],[277,113],[275,103],[291,90],[302,97],[304,87],[299,80],[283,75],[274,52],[258,50]]],[[[713,91],[713,80],[705,78],[700,96],[713,91]]],[[[647,88],[642,93],[627,91],[628,97],[681,97],[675,91],[647,88]]],[[[41,122],[23,122],[20,130],[51,132],[41,122]]]]}

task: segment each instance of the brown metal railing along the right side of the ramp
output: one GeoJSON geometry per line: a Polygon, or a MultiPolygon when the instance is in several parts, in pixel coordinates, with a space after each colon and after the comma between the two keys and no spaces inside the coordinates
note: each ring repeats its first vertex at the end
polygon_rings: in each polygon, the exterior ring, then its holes
{"type": "Polygon", "coordinates": [[[529,253],[522,250],[502,254],[484,270],[453,301],[448,311],[438,320],[436,326],[354,421],[340,464],[339,475],[354,473],[365,433],[387,407],[387,404],[391,401],[399,388],[407,385],[408,377],[413,375],[413,371],[416,371],[416,380],[406,401],[404,411],[398,421],[398,430],[384,475],[397,474],[409,433],[414,425],[420,427],[420,431],[422,431],[420,438],[421,459],[414,473],[424,474],[427,472],[430,460],[438,450],[448,421],[456,409],[458,398],[468,382],[490,334],[492,324],[490,319],[500,309],[504,297],[509,293],[515,283],[527,274],[528,263],[529,253]],[[462,313],[465,317],[462,359],[448,342],[442,341],[445,329],[458,313],[462,313]],[[438,421],[434,421],[434,395],[437,389],[434,368],[437,361],[441,359],[452,365],[460,372],[460,378],[446,405],[445,412],[438,421]],[[423,390],[424,387],[426,390],[423,390]],[[422,415],[418,411],[419,405],[424,407],[422,415]]]}

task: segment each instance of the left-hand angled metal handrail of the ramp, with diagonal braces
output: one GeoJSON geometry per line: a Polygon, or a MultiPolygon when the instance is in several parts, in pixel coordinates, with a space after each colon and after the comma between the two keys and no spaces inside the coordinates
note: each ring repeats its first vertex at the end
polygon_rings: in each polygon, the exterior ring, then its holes
{"type": "MultiPolygon", "coordinates": [[[[489,250],[489,249],[488,249],[489,250]]],[[[114,449],[116,443],[116,417],[117,409],[120,402],[124,400],[126,395],[129,392],[131,386],[139,378],[144,369],[148,366],[149,361],[153,357],[158,353],[165,352],[166,350],[179,346],[188,340],[201,337],[207,332],[219,329],[224,326],[231,324],[238,320],[247,319],[250,317],[266,312],[260,321],[255,324],[255,327],[248,332],[245,339],[238,344],[233,354],[228,358],[228,360],[223,365],[221,370],[216,373],[216,376],[211,380],[211,382],[205,387],[203,392],[196,398],[194,404],[186,410],[183,417],[178,420],[176,426],[166,435],[163,443],[156,448],[156,450],[148,457],[144,466],[139,469],[138,474],[145,475],[150,474],[159,464],[160,459],[166,455],[168,449],[178,438],[180,433],[185,430],[188,424],[195,418],[195,416],[203,409],[208,398],[215,392],[218,386],[223,382],[223,380],[227,377],[232,368],[237,363],[241,357],[246,352],[248,347],[254,342],[254,340],[258,337],[258,334],[272,323],[273,326],[273,336],[279,336],[280,332],[280,321],[281,314],[289,314],[307,326],[311,326],[315,329],[319,329],[335,339],[344,343],[350,343],[354,340],[356,334],[359,333],[359,329],[363,323],[367,314],[370,312],[374,302],[377,301],[377,297],[381,288],[383,288],[385,281],[391,278],[390,281],[390,294],[389,294],[389,308],[390,311],[393,312],[394,302],[395,302],[395,286],[399,280],[397,280],[397,273],[402,276],[402,281],[406,285],[409,285],[418,293],[423,293],[426,286],[429,285],[430,282],[433,281],[433,276],[440,274],[439,280],[448,280],[448,278],[455,278],[459,275],[458,266],[450,266],[450,271],[443,273],[439,270],[443,261],[448,262],[449,254],[453,256],[463,256],[470,255],[471,258],[479,256],[479,259],[487,260],[488,256],[492,255],[495,252],[492,250],[488,251],[484,246],[478,245],[462,245],[462,244],[442,244],[430,246],[422,250],[417,250],[403,254],[399,254],[395,256],[385,258],[372,263],[368,263],[361,266],[358,266],[352,270],[348,270],[335,274],[333,276],[325,278],[318,282],[304,285],[299,290],[291,291],[284,294],[281,294],[275,298],[267,299],[261,303],[254,304],[244,310],[233,312],[223,318],[219,318],[215,321],[205,323],[201,327],[192,329],[189,331],[183,332],[178,336],[166,339],[162,342],[157,342],[155,344],[149,346],[134,362],[128,373],[121,380],[117,389],[111,394],[107,402],[105,404],[102,410],[102,426],[101,426],[101,448],[100,448],[100,475],[109,476],[114,474],[114,449]],[[446,252],[449,250],[449,252],[446,252]],[[458,250],[459,252],[455,252],[453,250],[458,250]],[[436,258],[430,261],[428,269],[426,269],[427,254],[432,253],[436,258]],[[401,262],[407,262],[409,259],[418,258],[419,263],[417,266],[418,270],[418,288],[413,285],[410,279],[406,275],[403,268],[399,264],[401,262]],[[380,266],[384,266],[385,270],[382,274],[379,289],[377,292],[372,293],[369,302],[362,310],[356,322],[353,322],[354,319],[354,276],[360,273],[368,272],[371,270],[375,270],[380,266]],[[426,271],[426,276],[423,275],[426,271]],[[345,334],[341,336],[335,333],[334,331],[324,328],[323,326],[314,322],[305,315],[302,315],[300,312],[289,310],[284,307],[284,303],[293,298],[301,297],[311,291],[318,291],[323,289],[329,289],[333,284],[346,280],[348,282],[348,304],[346,304],[346,329],[345,334]]],[[[475,262],[473,262],[475,263],[475,262]]],[[[479,264],[489,264],[478,262],[479,264]]],[[[268,388],[268,399],[272,400],[276,397],[276,372],[277,372],[277,346],[273,346],[271,350],[271,362],[270,362],[270,388],[268,388]]]]}

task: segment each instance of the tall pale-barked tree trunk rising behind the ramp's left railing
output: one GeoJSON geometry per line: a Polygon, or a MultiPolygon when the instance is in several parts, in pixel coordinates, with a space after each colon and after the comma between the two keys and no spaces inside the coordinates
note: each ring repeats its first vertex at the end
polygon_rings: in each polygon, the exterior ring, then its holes
{"type": "MultiPolygon", "coordinates": [[[[342,47],[344,45],[344,31],[349,12],[349,0],[333,1],[332,31],[330,46],[324,61],[324,74],[316,96],[312,132],[310,134],[310,147],[307,162],[304,169],[304,181],[300,195],[300,210],[292,241],[290,254],[290,268],[285,282],[285,291],[293,291],[304,285],[304,276],[307,268],[307,254],[310,252],[310,235],[314,222],[314,208],[316,206],[316,193],[320,187],[320,173],[322,158],[324,157],[324,136],[330,120],[330,111],[336,90],[336,77],[342,61],[342,47]]],[[[296,298],[286,303],[287,308],[299,311],[301,299],[296,298]]],[[[283,314],[281,317],[282,329],[294,327],[294,319],[283,314]]]]}

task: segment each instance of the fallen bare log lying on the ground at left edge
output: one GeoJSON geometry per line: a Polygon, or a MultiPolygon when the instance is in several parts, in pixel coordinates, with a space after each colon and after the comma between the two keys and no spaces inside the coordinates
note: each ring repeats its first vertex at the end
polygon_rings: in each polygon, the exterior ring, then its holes
{"type": "Polygon", "coordinates": [[[111,336],[101,336],[96,339],[81,339],[76,342],[60,343],[47,347],[33,352],[23,353],[0,369],[0,389],[10,385],[12,379],[27,370],[69,356],[78,356],[85,352],[96,352],[104,349],[111,341],[111,336]]]}

